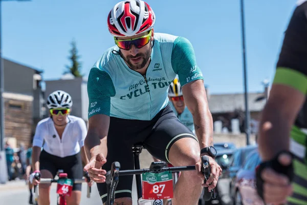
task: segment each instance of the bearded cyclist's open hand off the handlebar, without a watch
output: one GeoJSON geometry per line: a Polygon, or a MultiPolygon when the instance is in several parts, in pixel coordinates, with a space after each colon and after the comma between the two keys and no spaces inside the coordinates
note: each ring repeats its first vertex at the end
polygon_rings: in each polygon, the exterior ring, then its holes
{"type": "Polygon", "coordinates": [[[90,162],[85,165],[83,171],[89,172],[91,180],[97,182],[97,183],[103,183],[105,182],[105,174],[106,171],[101,169],[101,167],[106,162],[105,157],[103,154],[97,154],[96,156],[93,156],[90,159],[90,162]]]}

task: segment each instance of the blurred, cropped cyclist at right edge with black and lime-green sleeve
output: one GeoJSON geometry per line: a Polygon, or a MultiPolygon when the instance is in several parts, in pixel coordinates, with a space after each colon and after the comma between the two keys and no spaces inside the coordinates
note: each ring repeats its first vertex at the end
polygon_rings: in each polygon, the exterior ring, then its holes
{"type": "Polygon", "coordinates": [[[283,39],[259,126],[258,194],[266,203],[307,204],[307,2],[299,1],[283,39]],[[292,183],[291,183],[292,182],[292,183]]]}

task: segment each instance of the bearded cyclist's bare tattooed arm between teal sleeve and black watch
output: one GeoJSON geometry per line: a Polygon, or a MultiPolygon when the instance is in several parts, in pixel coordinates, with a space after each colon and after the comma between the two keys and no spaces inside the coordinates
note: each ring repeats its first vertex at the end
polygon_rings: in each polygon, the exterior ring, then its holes
{"type": "Polygon", "coordinates": [[[201,149],[213,145],[213,120],[209,111],[203,80],[192,81],[182,87],[187,108],[193,115],[196,136],[201,149]]]}

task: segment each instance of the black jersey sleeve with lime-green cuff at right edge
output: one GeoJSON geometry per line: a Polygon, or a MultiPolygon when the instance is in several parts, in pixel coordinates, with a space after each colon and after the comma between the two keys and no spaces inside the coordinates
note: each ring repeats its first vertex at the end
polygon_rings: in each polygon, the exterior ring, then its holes
{"type": "Polygon", "coordinates": [[[273,84],[307,92],[307,3],[298,6],[284,34],[273,84]]]}

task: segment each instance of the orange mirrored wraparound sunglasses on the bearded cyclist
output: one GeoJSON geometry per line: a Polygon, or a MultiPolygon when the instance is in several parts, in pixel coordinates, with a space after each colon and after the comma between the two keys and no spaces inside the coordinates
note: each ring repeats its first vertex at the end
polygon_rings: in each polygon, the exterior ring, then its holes
{"type": "Polygon", "coordinates": [[[114,41],[119,48],[123,50],[130,50],[132,45],[135,45],[135,47],[137,48],[144,47],[146,44],[148,44],[150,37],[151,37],[151,30],[147,35],[138,38],[118,40],[116,39],[116,37],[114,37],[114,41]]]}

